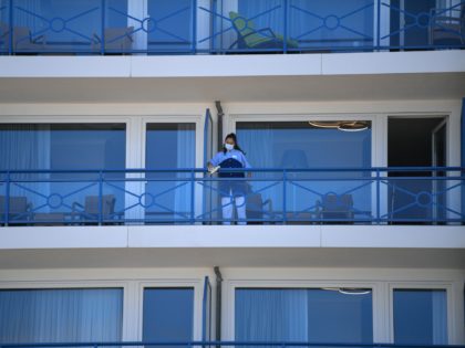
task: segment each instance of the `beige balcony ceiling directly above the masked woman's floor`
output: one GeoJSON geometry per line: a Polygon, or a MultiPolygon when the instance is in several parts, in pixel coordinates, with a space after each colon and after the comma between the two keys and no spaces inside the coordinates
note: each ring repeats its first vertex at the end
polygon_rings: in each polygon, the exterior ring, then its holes
{"type": "Polygon", "coordinates": [[[441,99],[465,96],[465,73],[0,78],[0,103],[185,103],[441,99]]]}

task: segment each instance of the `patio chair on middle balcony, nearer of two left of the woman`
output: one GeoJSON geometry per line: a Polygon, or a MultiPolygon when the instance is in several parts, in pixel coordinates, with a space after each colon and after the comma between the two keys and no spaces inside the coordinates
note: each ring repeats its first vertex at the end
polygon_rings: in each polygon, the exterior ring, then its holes
{"type": "MultiPolygon", "coordinates": [[[[87,196],[84,200],[84,205],[80,202],[73,202],[72,204],[72,217],[78,222],[91,222],[95,223],[99,221],[100,207],[99,196],[87,196]]],[[[102,220],[114,219],[116,198],[114,194],[102,196],[102,220]]]]}

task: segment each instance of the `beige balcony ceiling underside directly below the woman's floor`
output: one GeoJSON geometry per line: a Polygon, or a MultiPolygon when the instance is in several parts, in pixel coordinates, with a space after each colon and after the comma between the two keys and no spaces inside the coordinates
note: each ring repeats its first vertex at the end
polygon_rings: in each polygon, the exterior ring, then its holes
{"type": "Polygon", "coordinates": [[[62,249],[2,250],[0,270],[80,267],[464,268],[463,249],[62,249]]]}

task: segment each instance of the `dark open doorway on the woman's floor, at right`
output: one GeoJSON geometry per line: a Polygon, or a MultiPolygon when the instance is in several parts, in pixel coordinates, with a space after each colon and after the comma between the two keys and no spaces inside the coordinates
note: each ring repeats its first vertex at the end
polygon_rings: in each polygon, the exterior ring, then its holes
{"type": "Polygon", "coordinates": [[[405,168],[389,172],[389,217],[396,223],[442,223],[446,219],[445,181],[432,179],[446,173],[445,117],[390,117],[388,166],[405,168]],[[412,167],[431,169],[414,170],[412,167]]]}

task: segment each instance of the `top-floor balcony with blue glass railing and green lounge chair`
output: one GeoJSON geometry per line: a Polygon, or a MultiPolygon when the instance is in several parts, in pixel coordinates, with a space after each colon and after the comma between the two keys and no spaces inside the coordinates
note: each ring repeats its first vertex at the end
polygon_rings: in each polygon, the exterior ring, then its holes
{"type": "Polygon", "coordinates": [[[465,48],[465,1],[0,0],[0,54],[465,48]],[[436,4],[437,3],[437,4],[436,4]]]}

